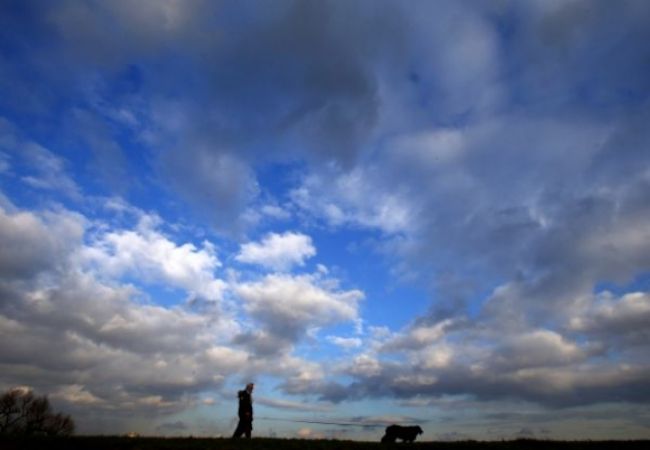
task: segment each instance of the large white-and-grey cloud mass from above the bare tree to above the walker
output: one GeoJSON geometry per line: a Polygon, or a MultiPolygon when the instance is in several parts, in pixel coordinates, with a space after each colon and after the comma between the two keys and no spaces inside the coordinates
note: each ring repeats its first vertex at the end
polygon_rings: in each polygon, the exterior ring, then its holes
{"type": "Polygon", "coordinates": [[[324,274],[272,274],[228,286],[214,278],[221,263],[211,244],[177,244],[155,216],[109,203],[111,211],[136,213],[136,226],[112,228],[65,210],[9,204],[1,211],[0,243],[20,244],[0,265],[3,385],[28,383],[70,411],[92,409],[79,421],[83,429],[113,415],[113,426],[126,430],[129,415],[180,412],[235,374],[276,376],[296,392],[323,382],[320,364],[291,350],[313,327],[357,319],[360,291],[342,290],[324,274]],[[143,301],[140,286],[121,281],[131,276],[215,300],[233,289],[229,295],[244,301],[261,329],[250,331],[225,311],[143,301]],[[30,374],[19,370],[25,366],[30,374]]]}

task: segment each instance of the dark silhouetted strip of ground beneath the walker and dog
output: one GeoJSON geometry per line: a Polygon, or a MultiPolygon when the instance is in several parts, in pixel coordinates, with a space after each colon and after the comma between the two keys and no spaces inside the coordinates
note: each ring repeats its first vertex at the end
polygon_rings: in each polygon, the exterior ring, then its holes
{"type": "Polygon", "coordinates": [[[644,441],[460,441],[416,442],[415,444],[381,444],[304,439],[252,439],[237,440],[213,438],[126,438],[126,437],[72,437],[72,438],[0,438],[2,450],[230,450],[230,449],[288,449],[288,450],[370,450],[386,448],[413,448],[436,450],[525,450],[525,449],[648,449],[650,440],[644,441]]]}

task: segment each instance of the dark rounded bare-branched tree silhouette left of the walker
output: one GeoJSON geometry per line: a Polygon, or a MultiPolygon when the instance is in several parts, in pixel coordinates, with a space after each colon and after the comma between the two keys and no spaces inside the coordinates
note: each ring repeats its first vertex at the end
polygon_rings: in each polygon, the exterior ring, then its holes
{"type": "Polygon", "coordinates": [[[45,395],[31,390],[10,389],[0,396],[0,435],[70,436],[74,421],[69,415],[54,413],[45,395]]]}

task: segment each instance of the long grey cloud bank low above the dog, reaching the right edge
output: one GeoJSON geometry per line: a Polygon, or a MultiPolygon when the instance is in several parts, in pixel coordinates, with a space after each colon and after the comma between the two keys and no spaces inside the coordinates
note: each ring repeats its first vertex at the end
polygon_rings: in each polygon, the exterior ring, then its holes
{"type": "MultiPolygon", "coordinates": [[[[495,294],[495,297],[505,295],[495,294]]],[[[513,291],[508,295],[515,295],[513,291]]],[[[621,401],[644,404],[650,370],[642,352],[645,293],[588,296],[559,330],[533,328],[486,309],[480,322],[416,320],[399,333],[373,333],[364,352],[342,368],[348,385],[310,384],[322,399],[449,396],[504,398],[569,407],[621,401]],[[493,317],[490,314],[494,314],[493,317]],[[618,359],[618,364],[609,363],[618,359]],[[627,393],[627,394],[626,394],[627,393]]],[[[509,303],[512,305],[512,303],[509,303]]],[[[516,305],[515,305],[516,306],[516,305]]],[[[567,310],[568,311],[568,310],[567,310]]]]}

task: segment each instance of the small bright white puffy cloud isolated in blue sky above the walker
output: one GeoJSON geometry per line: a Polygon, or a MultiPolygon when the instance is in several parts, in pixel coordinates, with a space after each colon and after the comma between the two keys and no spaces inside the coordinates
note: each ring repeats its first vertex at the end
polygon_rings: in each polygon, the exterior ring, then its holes
{"type": "Polygon", "coordinates": [[[309,236],[288,231],[283,234],[269,233],[260,242],[242,245],[235,259],[285,271],[294,265],[303,266],[305,260],[315,254],[316,248],[309,236]]]}

